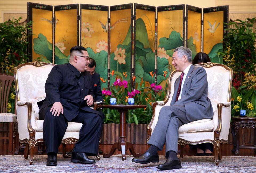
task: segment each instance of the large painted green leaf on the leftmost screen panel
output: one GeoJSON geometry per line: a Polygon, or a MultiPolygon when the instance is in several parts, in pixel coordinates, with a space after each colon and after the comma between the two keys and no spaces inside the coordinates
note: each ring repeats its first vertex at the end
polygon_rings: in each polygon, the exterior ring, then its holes
{"type": "Polygon", "coordinates": [[[49,49],[47,38],[40,33],[38,34],[38,38],[33,39],[33,43],[34,52],[39,55],[42,55],[43,57],[46,57],[48,61],[53,63],[53,50],[49,49]]]}

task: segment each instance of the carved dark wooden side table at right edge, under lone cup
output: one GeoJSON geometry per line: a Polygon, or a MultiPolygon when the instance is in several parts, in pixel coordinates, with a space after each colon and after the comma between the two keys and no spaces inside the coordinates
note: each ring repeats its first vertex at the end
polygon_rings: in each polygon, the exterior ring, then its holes
{"type": "Polygon", "coordinates": [[[240,148],[254,149],[256,153],[256,117],[231,117],[231,132],[233,135],[233,149],[231,150],[236,155],[239,154],[240,148]],[[254,145],[239,145],[239,128],[252,128],[254,129],[254,145]]]}

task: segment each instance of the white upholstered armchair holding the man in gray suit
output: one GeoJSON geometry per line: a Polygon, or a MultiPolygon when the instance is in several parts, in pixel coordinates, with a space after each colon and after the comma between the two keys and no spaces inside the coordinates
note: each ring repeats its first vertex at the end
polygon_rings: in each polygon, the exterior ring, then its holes
{"type": "MultiPolygon", "coordinates": [[[[213,106],[214,115],[212,120],[198,120],[179,127],[178,144],[181,145],[181,157],[183,157],[183,145],[210,142],[214,145],[214,159],[215,164],[218,165],[219,159],[221,160],[219,146],[221,143],[227,143],[229,135],[233,70],[217,63],[203,63],[195,66],[202,66],[206,70],[208,97],[213,106]]],[[[170,105],[174,93],[174,82],[180,75],[181,72],[173,71],[169,76],[165,100],[152,103],[153,117],[147,127],[148,140],[158,121],[160,109],[170,105]]]]}

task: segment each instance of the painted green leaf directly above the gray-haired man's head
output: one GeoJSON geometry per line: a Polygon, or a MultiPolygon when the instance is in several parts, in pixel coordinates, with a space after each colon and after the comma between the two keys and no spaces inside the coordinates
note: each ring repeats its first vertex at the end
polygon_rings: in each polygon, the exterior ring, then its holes
{"type": "Polygon", "coordinates": [[[183,41],[181,40],[181,34],[179,32],[172,31],[169,38],[162,37],[159,39],[158,47],[164,47],[165,50],[176,49],[179,46],[183,46],[183,41]]]}

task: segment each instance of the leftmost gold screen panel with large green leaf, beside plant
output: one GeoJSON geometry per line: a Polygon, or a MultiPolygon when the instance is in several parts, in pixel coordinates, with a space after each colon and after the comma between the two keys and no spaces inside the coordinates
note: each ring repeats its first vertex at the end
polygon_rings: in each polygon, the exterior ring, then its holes
{"type": "Polygon", "coordinates": [[[30,61],[53,63],[53,6],[27,3],[27,21],[33,21],[28,39],[30,61]]]}

